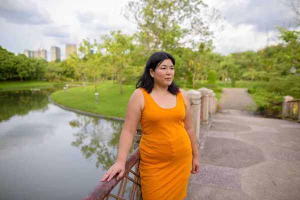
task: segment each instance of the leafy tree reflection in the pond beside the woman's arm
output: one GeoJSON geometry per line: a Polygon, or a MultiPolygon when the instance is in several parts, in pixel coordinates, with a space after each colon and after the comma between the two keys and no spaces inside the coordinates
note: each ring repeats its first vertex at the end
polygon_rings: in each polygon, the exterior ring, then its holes
{"type": "Polygon", "coordinates": [[[91,160],[92,156],[96,156],[97,168],[101,166],[102,170],[107,170],[115,162],[123,122],[77,114],[69,125],[80,128],[73,133],[75,140],[71,145],[80,148],[86,159],[91,160]]]}

